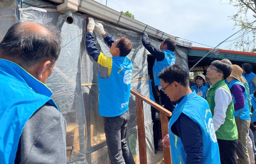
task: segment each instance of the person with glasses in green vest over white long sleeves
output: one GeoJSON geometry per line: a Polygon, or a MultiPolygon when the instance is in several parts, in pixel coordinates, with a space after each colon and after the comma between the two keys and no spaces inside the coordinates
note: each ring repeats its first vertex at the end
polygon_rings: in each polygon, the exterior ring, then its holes
{"type": "Polygon", "coordinates": [[[212,86],[207,91],[207,102],[220,150],[221,164],[236,164],[238,132],[234,117],[234,104],[225,79],[231,74],[231,66],[215,60],[206,72],[212,86]]]}

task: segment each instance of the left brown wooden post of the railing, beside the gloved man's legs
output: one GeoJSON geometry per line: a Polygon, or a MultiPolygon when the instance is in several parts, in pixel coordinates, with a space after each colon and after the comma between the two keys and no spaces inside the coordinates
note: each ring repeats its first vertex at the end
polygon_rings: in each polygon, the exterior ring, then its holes
{"type": "Polygon", "coordinates": [[[136,111],[137,111],[136,113],[137,113],[140,164],[147,164],[143,102],[140,98],[137,98],[137,97],[136,97],[136,111]]]}

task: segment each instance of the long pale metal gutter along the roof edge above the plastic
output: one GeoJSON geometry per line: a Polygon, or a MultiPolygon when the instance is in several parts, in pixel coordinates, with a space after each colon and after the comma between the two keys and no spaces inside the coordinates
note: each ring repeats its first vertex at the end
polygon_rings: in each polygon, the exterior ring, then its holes
{"type": "MultiPolygon", "coordinates": [[[[52,2],[56,2],[57,0],[51,0],[52,2]]],[[[138,33],[147,33],[149,36],[154,37],[156,39],[164,40],[168,37],[175,40],[176,44],[182,47],[190,48],[192,47],[191,42],[181,41],[175,36],[166,34],[154,27],[148,26],[138,20],[132,19],[120,12],[117,12],[103,4],[100,4],[93,0],[65,0],[63,4],[57,6],[58,11],[64,12],[64,10],[72,10],[72,12],[76,12],[77,10],[80,12],[84,12],[86,14],[92,15],[93,17],[106,20],[113,24],[119,25],[121,27],[128,28],[132,31],[138,33]],[[69,5],[68,5],[69,4],[69,5]],[[75,6],[67,7],[67,6],[75,6]],[[77,9],[78,6],[78,9],[77,9]]]]}

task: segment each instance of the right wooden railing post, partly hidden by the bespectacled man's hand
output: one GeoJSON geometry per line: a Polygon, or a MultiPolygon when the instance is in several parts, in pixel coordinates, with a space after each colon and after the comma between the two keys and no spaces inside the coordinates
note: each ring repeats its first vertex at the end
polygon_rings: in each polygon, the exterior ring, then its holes
{"type": "MultiPolygon", "coordinates": [[[[169,134],[168,132],[168,123],[169,119],[168,116],[165,115],[164,113],[160,112],[160,117],[161,117],[161,129],[162,129],[162,138],[169,134]]],[[[164,164],[172,164],[172,159],[171,159],[171,147],[164,147],[163,146],[163,151],[164,151],[164,164]]]]}

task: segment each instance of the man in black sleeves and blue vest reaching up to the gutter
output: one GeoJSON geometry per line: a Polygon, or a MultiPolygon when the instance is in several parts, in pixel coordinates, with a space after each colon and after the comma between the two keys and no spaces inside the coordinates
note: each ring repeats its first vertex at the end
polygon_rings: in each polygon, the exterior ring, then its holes
{"type": "Polygon", "coordinates": [[[171,38],[167,38],[161,43],[160,49],[158,49],[148,41],[148,35],[143,34],[142,44],[156,58],[153,66],[154,81],[160,92],[162,106],[165,109],[172,112],[176,103],[170,101],[170,99],[161,90],[162,89],[161,82],[160,82],[160,79],[157,77],[157,75],[162,71],[164,67],[175,64],[176,57],[173,51],[176,48],[176,43],[171,38]]]}

